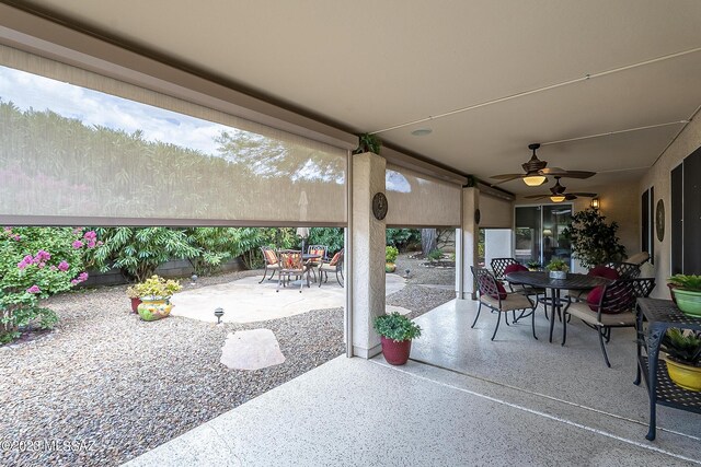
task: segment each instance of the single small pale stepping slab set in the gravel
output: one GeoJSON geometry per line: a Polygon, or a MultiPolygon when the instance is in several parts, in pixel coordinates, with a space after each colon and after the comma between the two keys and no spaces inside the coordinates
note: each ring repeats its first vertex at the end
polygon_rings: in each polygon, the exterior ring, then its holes
{"type": "Polygon", "coordinates": [[[232,370],[260,370],[279,365],[285,355],[271,329],[250,329],[227,336],[219,361],[232,370]]]}

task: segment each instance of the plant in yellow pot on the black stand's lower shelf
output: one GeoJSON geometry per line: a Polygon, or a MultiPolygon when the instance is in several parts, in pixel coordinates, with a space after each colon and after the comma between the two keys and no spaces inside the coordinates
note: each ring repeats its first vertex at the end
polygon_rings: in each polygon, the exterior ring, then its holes
{"type": "Polygon", "coordinates": [[[669,328],[662,338],[667,352],[667,372],[678,386],[701,390],[701,331],[669,328]]]}

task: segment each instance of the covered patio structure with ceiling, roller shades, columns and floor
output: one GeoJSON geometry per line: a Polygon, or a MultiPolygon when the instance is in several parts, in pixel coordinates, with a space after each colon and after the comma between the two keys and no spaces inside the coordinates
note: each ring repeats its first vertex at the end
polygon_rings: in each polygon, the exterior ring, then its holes
{"type": "Polygon", "coordinates": [[[633,330],[608,369],[576,319],[548,342],[540,308],[539,340],[524,320],[490,341],[487,312],[470,329],[481,237],[585,272],[558,217],[594,199],[650,254],[651,296],[701,273],[700,20],[691,0],[3,1],[0,225],[344,229],[346,355],[133,465],[701,464],[698,415],[659,407],[645,440],[633,330]],[[399,227],[456,238],[456,300],[405,367],[372,328],[399,227]]]}

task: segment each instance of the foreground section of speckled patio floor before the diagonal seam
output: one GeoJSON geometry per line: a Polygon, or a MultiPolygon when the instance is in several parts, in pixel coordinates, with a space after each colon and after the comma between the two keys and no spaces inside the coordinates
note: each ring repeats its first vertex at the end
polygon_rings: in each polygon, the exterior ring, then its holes
{"type": "Polygon", "coordinates": [[[340,357],[128,466],[184,465],[193,456],[202,466],[640,467],[694,460],[505,400],[492,383],[449,380],[455,374],[423,372],[425,366],[340,357]]]}

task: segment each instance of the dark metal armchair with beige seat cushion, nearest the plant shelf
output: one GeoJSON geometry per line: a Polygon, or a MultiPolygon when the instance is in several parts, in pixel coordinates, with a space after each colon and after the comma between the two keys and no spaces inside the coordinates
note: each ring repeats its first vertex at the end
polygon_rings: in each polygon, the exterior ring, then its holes
{"type": "MultiPolygon", "coordinates": [[[[654,288],[653,278],[618,279],[594,289],[586,302],[570,302],[563,311],[564,317],[570,315],[579,318],[597,331],[604,361],[611,367],[605,341],[610,341],[612,328],[635,326],[635,301],[648,296],[654,288]]],[[[562,320],[562,326],[564,346],[567,339],[567,319],[562,320]]]]}

